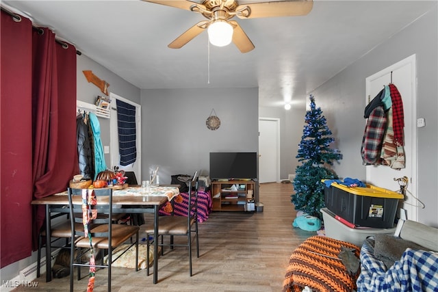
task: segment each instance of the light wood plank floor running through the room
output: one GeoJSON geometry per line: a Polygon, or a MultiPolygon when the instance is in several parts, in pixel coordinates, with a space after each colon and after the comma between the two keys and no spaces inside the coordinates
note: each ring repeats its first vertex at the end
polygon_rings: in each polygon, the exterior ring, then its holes
{"type": "MultiPolygon", "coordinates": [[[[159,258],[157,284],[146,270],[113,268],[112,291],[281,291],[290,254],[316,234],[292,227],[296,211],[291,194],[290,183],[261,184],[263,212],[211,213],[199,224],[200,257],[192,259],[194,276],[189,276],[187,249],[176,247],[159,258]]],[[[96,272],[94,291],[107,290],[106,274],[106,269],[96,272]]],[[[37,288],[14,291],[68,291],[70,287],[68,277],[47,283],[42,274],[34,281],[37,288]]],[[[75,278],[75,291],[86,291],[87,282],[88,278],[75,278]]]]}

